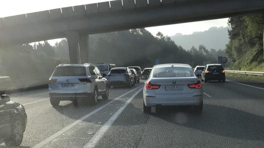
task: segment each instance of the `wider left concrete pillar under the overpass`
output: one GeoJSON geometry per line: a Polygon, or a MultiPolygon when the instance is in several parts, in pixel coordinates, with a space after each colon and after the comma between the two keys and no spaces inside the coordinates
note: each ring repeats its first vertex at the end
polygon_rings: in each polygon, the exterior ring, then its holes
{"type": "Polygon", "coordinates": [[[70,54],[70,63],[78,64],[80,59],[79,57],[79,33],[76,31],[68,31],[66,32],[66,37],[69,46],[69,54],[70,54]]]}

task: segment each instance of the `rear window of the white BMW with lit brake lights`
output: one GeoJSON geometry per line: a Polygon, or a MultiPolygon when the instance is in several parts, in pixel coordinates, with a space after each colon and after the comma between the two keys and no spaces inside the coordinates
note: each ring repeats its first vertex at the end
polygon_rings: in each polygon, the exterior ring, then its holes
{"type": "Polygon", "coordinates": [[[167,77],[193,77],[193,70],[187,67],[161,67],[155,68],[153,77],[167,78],[167,77]]]}

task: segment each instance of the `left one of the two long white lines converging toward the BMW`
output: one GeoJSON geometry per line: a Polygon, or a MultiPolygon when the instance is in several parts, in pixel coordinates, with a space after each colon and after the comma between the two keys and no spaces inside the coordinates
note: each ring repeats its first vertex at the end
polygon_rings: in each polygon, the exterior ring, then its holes
{"type": "Polygon", "coordinates": [[[91,115],[94,115],[96,112],[100,111],[101,109],[103,109],[104,107],[108,106],[110,103],[118,100],[119,98],[125,96],[126,94],[131,93],[132,91],[140,88],[142,86],[139,86],[135,89],[132,89],[131,91],[126,92],[125,94],[122,94],[121,96],[113,99],[112,101],[106,103],[105,105],[99,107],[98,109],[95,109],[94,111],[90,112],[89,114],[83,116],[82,118],[80,118],[79,120],[74,121],[73,123],[71,123],[70,125],[64,127],[63,129],[61,129],[60,131],[56,132],[55,134],[49,136],[48,138],[44,139],[43,141],[41,141],[39,144],[36,144],[34,147],[32,148],[40,148],[43,147],[44,145],[48,144],[50,141],[52,141],[53,139],[57,138],[59,135],[63,134],[64,132],[67,132],[69,129],[71,129],[73,126],[75,126],[76,124],[82,122],[83,120],[85,120],[86,118],[90,117],[91,115]]]}

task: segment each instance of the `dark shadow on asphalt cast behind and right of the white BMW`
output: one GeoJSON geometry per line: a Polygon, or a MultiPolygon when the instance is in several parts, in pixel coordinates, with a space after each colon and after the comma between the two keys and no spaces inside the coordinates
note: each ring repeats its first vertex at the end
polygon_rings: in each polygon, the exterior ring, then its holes
{"type": "Polygon", "coordinates": [[[152,116],[168,122],[243,140],[264,139],[264,118],[229,107],[204,105],[201,114],[196,114],[191,108],[168,108],[158,111],[152,116]]]}

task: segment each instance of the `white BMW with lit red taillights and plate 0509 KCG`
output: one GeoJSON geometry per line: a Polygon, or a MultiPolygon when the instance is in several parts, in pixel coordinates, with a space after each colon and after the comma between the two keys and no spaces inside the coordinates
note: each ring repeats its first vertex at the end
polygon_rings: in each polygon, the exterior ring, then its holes
{"type": "Polygon", "coordinates": [[[143,89],[143,110],[152,106],[191,105],[202,112],[203,91],[199,79],[187,64],[155,65],[143,89]]]}

